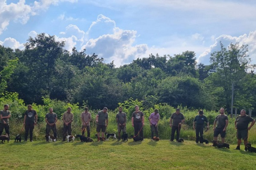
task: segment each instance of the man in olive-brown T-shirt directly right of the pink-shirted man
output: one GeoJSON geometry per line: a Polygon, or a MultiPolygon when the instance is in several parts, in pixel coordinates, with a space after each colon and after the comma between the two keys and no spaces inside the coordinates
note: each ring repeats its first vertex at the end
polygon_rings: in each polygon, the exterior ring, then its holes
{"type": "Polygon", "coordinates": [[[171,116],[170,127],[172,128],[172,132],[171,132],[171,140],[170,141],[173,141],[175,131],[176,131],[176,141],[178,141],[180,138],[181,124],[184,123],[184,121],[185,121],[183,114],[180,112],[181,112],[180,109],[177,108],[176,112],[173,113],[171,116]],[[172,122],[172,120],[173,120],[173,122],[172,122]]]}

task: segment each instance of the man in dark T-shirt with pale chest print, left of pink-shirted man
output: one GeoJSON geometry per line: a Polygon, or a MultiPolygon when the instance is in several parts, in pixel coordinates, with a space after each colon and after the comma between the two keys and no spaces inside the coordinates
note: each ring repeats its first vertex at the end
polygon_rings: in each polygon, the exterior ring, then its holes
{"type": "Polygon", "coordinates": [[[139,110],[138,105],[136,105],[134,108],[135,112],[133,112],[131,116],[131,123],[134,127],[134,136],[137,136],[138,132],[140,132],[140,137],[142,137],[143,140],[143,126],[145,125],[144,114],[139,110]]]}

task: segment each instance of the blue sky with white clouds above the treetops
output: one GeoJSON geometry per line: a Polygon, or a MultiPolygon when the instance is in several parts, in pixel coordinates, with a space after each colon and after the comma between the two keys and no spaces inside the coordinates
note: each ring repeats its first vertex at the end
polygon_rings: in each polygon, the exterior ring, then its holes
{"type": "Polygon", "coordinates": [[[186,50],[209,64],[222,41],[248,44],[256,64],[255,11],[253,0],[0,0],[0,45],[23,49],[44,32],[118,67],[186,50]]]}

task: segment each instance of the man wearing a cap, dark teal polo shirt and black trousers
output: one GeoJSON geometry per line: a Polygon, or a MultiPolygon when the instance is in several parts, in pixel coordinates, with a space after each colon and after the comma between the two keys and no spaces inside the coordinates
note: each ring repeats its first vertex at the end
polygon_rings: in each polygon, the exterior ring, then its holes
{"type": "Polygon", "coordinates": [[[209,129],[209,121],[206,116],[203,115],[203,111],[198,112],[199,115],[197,115],[193,122],[193,129],[196,129],[196,143],[200,141],[200,143],[203,143],[203,126],[204,122],[207,123],[207,129],[209,129]],[[195,126],[196,124],[196,126],[195,126]],[[199,138],[200,133],[200,138],[199,138]]]}

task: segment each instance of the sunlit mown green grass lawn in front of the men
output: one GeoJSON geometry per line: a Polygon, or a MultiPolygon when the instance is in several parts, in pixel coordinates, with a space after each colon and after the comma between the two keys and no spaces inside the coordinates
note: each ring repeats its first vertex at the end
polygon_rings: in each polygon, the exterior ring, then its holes
{"type": "MultiPolygon", "coordinates": [[[[256,153],[217,149],[211,145],[145,139],[142,142],[110,140],[84,143],[45,141],[0,144],[0,169],[35,170],[253,170],[256,153]]],[[[241,147],[243,149],[243,147],[241,147]]]]}

